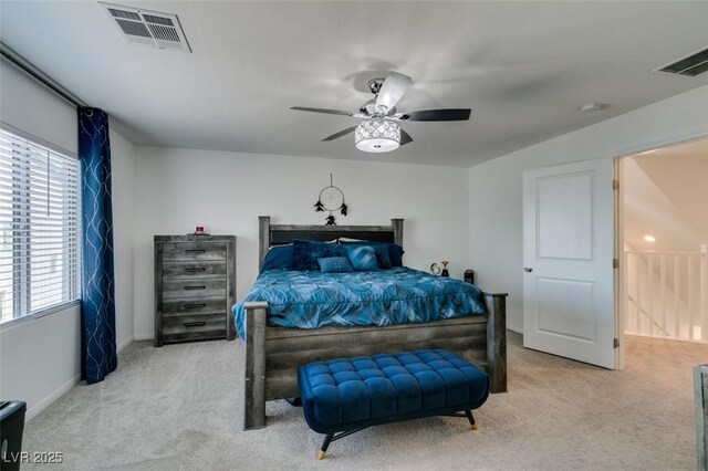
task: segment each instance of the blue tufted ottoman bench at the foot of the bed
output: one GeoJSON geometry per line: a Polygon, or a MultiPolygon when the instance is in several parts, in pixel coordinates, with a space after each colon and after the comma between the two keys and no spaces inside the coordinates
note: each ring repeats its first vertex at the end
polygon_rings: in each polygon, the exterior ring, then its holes
{"type": "Polygon", "coordinates": [[[489,396],[489,375],[446,350],[416,350],[303,365],[298,370],[305,421],[330,442],[367,427],[430,416],[467,417],[489,396]],[[339,435],[335,435],[339,433],[339,435]]]}

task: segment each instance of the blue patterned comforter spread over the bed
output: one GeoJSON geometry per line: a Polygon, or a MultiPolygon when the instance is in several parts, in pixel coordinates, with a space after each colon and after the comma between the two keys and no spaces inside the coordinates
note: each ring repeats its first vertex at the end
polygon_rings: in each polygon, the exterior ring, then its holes
{"type": "Polygon", "coordinates": [[[249,301],[268,302],[269,325],[296,328],[413,324],[485,313],[477,286],[405,266],[348,273],[268,270],[231,308],[241,338],[249,301]]]}

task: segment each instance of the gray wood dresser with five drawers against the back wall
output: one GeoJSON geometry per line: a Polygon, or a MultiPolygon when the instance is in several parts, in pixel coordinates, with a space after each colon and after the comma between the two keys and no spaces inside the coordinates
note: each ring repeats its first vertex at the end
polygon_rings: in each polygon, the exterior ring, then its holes
{"type": "Polygon", "coordinates": [[[236,237],[155,236],[155,346],[235,337],[236,237]]]}

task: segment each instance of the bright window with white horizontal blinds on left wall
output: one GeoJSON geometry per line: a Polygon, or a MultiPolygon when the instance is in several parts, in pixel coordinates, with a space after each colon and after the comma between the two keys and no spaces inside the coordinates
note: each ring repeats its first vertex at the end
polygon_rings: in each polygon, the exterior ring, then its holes
{"type": "Polygon", "coordinates": [[[81,293],[80,165],[0,129],[0,323],[81,293]]]}

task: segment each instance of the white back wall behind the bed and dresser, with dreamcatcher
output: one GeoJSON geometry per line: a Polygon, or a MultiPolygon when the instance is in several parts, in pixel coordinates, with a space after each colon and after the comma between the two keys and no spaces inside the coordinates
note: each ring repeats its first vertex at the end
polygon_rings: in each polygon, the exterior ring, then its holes
{"type": "Polygon", "coordinates": [[[313,205],[334,185],[351,212],[340,224],[388,224],[404,218],[405,263],[428,270],[449,260],[461,278],[468,260],[468,178],[459,168],[137,147],[135,335],[154,328],[153,236],[205,226],[236,234],[237,297],[258,271],[258,216],[273,223],[324,223],[313,205]]]}

